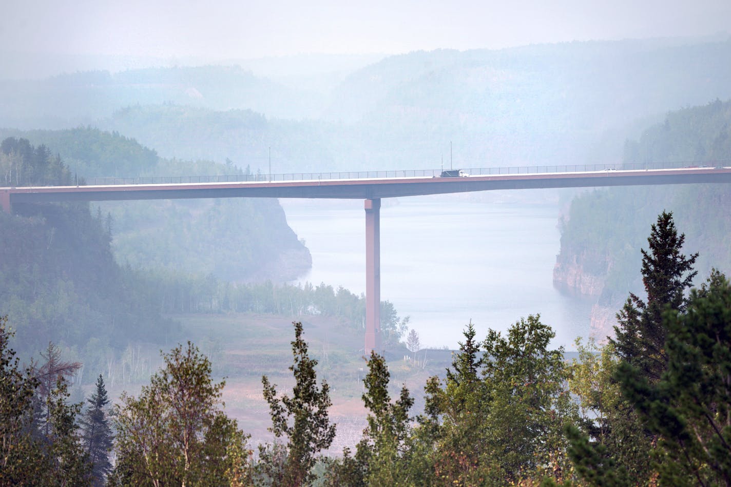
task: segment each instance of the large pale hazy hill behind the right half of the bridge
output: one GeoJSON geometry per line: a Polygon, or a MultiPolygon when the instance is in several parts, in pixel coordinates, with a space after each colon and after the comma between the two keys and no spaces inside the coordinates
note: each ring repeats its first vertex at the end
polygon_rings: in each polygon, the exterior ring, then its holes
{"type": "Polygon", "coordinates": [[[372,161],[436,164],[451,140],[460,167],[616,162],[637,121],[727,99],[729,79],[729,39],[438,50],[360,69],[327,115],[368,134],[372,161]]]}

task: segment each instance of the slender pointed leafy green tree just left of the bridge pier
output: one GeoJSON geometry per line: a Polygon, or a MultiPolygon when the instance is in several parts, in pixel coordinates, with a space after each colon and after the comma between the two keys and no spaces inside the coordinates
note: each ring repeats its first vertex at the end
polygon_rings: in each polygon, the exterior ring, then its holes
{"type": "MultiPolygon", "coordinates": [[[[315,455],[330,447],[335,437],[335,425],[330,424],[327,408],[330,407],[330,387],[322,382],[317,387],[315,366],[317,360],[309,358],[307,343],[302,338],[302,323],[295,322],[295,341],[292,341],[293,363],[289,370],[295,377],[292,396],[277,397],[276,385],[268,377],[262,377],[264,399],[269,404],[272,431],[276,437],[287,437],[287,458],[281,462],[281,470],[268,468],[274,485],[303,486],[311,480],[315,455]]],[[[265,449],[260,449],[266,452],[265,449]]],[[[264,465],[264,468],[271,467],[264,465]]]]}

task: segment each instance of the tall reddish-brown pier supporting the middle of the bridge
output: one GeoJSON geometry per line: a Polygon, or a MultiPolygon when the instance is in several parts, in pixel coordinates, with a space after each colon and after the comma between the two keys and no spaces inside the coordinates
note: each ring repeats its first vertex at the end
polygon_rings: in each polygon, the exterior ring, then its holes
{"type": "Polygon", "coordinates": [[[381,352],[381,199],[366,200],[366,356],[381,352]]]}

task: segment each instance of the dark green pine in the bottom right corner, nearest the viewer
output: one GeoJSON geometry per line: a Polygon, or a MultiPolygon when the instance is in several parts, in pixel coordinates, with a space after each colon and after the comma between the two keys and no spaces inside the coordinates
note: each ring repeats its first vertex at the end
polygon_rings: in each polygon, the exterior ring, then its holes
{"type": "Polygon", "coordinates": [[[718,272],[693,290],[685,312],[667,309],[667,370],[659,381],[624,362],[622,391],[659,436],[660,480],[731,483],[731,284],[718,272]]]}

